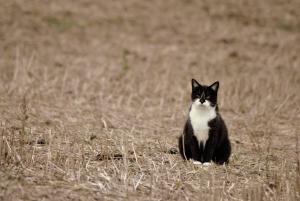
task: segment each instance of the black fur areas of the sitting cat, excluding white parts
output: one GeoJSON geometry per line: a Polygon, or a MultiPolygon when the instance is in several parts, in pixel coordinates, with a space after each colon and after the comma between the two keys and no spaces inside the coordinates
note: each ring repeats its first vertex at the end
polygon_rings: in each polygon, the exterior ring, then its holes
{"type": "Polygon", "coordinates": [[[216,106],[217,116],[208,122],[210,128],[209,137],[204,148],[202,142],[198,143],[190,119],[188,118],[184,126],[183,135],[179,137],[179,151],[183,159],[193,159],[202,163],[213,161],[216,164],[229,162],[231,145],[225,122],[218,112],[218,87],[219,82],[215,82],[210,86],[202,86],[196,80],[192,80],[192,100],[199,98],[201,102],[201,98],[205,96],[205,99],[209,100],[212,106],[216,106]]]}

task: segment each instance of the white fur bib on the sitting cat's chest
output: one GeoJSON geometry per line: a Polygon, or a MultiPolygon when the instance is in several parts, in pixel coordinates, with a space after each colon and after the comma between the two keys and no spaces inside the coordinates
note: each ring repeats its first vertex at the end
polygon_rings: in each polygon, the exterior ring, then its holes
{"type": "Polygon", "coordinates": [[[203,107],[198,104],[192,104],[190,113],[190,121],[193,127],[194,135],[199,144],[205,143],[208,139],[209,126],[208,122],[216,117],[216,110],[214,107],[203,107]]]}

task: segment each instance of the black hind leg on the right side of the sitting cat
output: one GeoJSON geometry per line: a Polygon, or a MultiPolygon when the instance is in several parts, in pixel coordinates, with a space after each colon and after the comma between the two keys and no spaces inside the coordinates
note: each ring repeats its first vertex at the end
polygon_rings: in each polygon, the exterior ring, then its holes
{"type": "Polygon", "coordinates": [[[216,150],[214,159],[217,164],[224,164],[229,162],[229,157],[231,154],[231,145],[228,138],[225,138],[221,144],[221,146],[218,147],[216,150]]]}

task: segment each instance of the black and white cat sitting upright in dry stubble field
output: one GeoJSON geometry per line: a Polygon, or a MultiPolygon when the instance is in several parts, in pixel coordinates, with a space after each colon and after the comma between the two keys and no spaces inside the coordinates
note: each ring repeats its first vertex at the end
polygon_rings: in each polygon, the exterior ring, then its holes
{"type": "Polygon", "coordinates": [[[179,151],[186,159],[209,165],[228,163],[231,145],[225,122],[218,112],[219,82],[201,85],[192,79],[192,105],[179,137],[179,151]]]}

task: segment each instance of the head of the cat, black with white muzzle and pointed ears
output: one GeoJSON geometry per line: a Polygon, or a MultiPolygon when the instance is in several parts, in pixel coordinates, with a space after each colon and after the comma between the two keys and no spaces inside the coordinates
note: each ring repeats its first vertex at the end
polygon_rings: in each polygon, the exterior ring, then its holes
{"type": "Polygon", "coordinates": [[[206,86],[192,79],[192,101],[200,108],[212,108],[217,105],[219,82],[206,86]]]}

